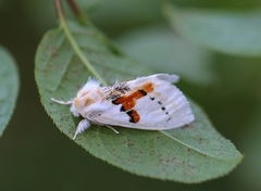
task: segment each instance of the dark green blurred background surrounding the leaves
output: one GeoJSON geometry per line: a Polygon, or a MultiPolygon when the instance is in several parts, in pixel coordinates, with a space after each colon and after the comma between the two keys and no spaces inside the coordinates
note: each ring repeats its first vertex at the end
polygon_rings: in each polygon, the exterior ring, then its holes
{"type": "MultiPolygon", "coordinates": [[[[134,58],[135,52],[127,48],[133,41],[129,39],[144,33],[132,30],[145,31],[154,25],[169,27],[160,0],[78,2],[83,9],[90,8],[94,23],[134,58]]],[[[261,7],[260,0],[172,2],[182,8],[261,7]]],[[[70,11],[66,14],[70,15],[70,11]]],[[[0,0],[0,44],[16,60],[21,78],[14,115],[0,138],[0,190],[261,190],[261,58],[204,50],[208,64],[199,71],[213,79],[198,82],[189,77],[194,76],[192,71],[191,75],[186,73],[181,89],[204,109],[215,128],[234,142],[245,158],[223,178],[200,184],[175,183],[138,177],[113,167],[86,153],[55,128],[40,104],[34,79],[37,44],[46,30],[54,27],[57,18],[51,0],[0,0]]]]}

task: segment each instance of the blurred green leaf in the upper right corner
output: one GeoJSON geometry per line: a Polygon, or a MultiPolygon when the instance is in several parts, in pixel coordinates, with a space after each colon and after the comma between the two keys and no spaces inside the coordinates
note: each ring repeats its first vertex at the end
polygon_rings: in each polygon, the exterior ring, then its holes
{"type": "Polygon", "coordinates": [[[177,33],[199,44],[227,54],[261,55],[261,10],[228,12],[165,4],[164,13],[177,33]]]}

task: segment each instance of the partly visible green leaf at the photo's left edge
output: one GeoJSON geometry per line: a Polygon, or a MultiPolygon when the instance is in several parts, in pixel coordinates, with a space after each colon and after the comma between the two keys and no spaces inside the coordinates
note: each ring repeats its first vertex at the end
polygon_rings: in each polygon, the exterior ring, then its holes
{"type": "Polygon", "coordinates": [[[18,94],[18,73],[13,58],[0,47],[0,136],[13,114],[18,94]]]}

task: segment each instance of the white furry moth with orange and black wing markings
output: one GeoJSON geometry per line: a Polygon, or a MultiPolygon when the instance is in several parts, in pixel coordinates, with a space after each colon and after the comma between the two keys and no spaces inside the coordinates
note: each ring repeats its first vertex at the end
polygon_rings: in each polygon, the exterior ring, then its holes
{"type": "Polygon", "coordinates": [[[184,126],[194,120],[185,96],[172,82],[178,76],[156,74],[134,80],[101,87],[91,78],[71,101],[51,99],[70,104],[74,116],[82,116],[73,139],[90,124],[122,126],[142,130],[165,130],[184,126]]]}

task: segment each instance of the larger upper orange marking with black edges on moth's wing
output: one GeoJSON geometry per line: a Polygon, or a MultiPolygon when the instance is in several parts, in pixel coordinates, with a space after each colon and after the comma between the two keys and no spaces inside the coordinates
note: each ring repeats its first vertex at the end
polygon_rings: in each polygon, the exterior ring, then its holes
{"type": "Polygon", "coordinates": [[[142,87],[140,87],[138,90],[134,91],[129,96],[123,96],[116,100],[113,101],[114,104],[122,104],[123,109],[125,111],[132,110],[136,101],[142,97],[145,97],[148,92],[153,91],[153,84],[147,82],[142,87]]]}

